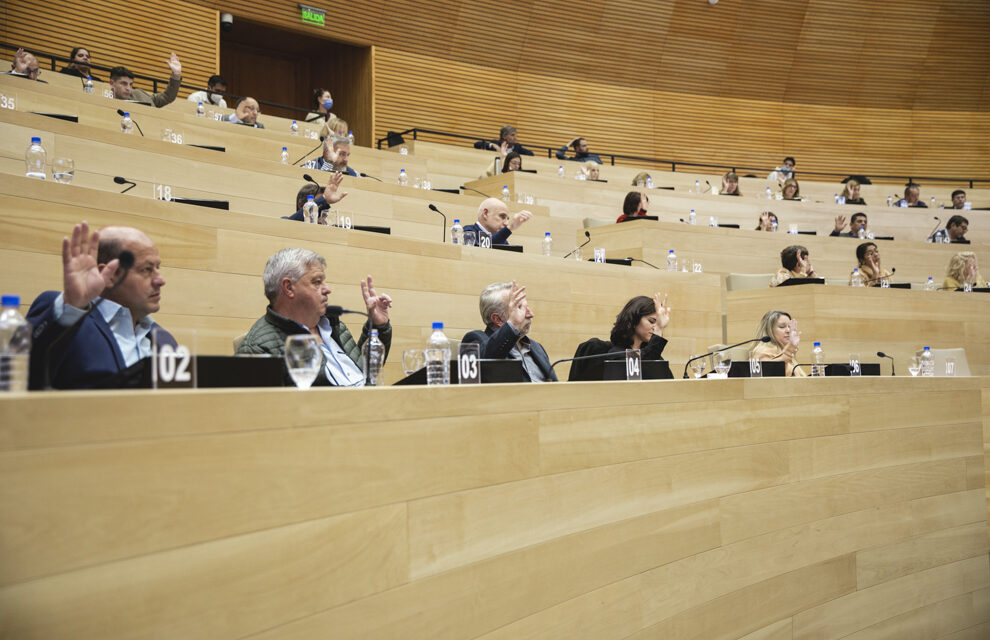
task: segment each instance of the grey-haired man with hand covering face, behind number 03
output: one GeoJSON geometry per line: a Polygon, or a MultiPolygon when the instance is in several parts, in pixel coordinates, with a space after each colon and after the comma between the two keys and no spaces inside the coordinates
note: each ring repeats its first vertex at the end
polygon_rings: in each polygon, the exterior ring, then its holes
{"type": "Polygon", "coordinates": [[[462,343],[480,344],[483,359],[522,360],[527,382],[557,381],[546,350],[529,337],[533,312],[526,302],[526,287],[515,282],[490,284],[481,292],[478,306],[485,330],[469,331],[462,343]]]}

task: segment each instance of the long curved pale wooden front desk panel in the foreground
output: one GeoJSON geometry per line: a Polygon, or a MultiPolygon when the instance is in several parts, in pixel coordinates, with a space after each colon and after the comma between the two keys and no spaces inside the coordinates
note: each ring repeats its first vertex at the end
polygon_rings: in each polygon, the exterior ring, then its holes
{"type": "Polygon", "coordinates": [[[5,395],[4,634],[976,627],[982,412],[977,378],[5,395]]]}

